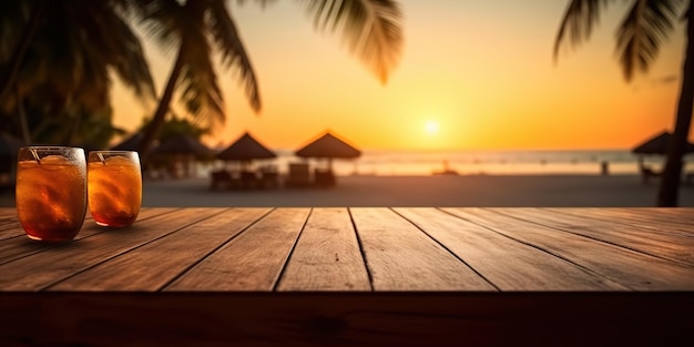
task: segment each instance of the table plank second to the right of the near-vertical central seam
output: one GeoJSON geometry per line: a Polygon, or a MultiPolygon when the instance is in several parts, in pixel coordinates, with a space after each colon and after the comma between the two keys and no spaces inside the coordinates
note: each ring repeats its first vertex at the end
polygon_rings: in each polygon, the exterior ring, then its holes
{"type": "Polygon", "coordinates": [[[625,290],[551,253],[433,208],[395,208],[501,290],[625,290]]]}

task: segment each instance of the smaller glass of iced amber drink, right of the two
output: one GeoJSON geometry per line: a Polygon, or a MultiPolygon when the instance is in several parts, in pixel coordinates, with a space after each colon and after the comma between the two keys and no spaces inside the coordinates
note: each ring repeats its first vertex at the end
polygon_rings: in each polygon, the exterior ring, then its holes
{"type": "Polygon", "coordinates": [[[142,203],[140,156],[132,151],[89,152],[89,211],[96,224],[130,226],[142,203]]]}

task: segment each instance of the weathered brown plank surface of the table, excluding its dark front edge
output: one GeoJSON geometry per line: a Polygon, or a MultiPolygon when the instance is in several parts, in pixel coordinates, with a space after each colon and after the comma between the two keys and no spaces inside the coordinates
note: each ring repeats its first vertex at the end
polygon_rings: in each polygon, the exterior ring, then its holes
{"type": "Polygon", "coordinates": [[[144,208],[29,241],[1,290],[694,290],[692,208],[144,208]]]}

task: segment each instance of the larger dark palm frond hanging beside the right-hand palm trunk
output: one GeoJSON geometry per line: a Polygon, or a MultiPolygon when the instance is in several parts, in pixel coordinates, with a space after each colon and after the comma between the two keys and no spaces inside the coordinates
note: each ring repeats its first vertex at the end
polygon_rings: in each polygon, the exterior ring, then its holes
{"type": "Polygon", "coordinates": [[[661,43],[672,32],[682,0],[637,0],[616,32],[616,54],[622,73],[631,81],[634,72],[646,72],[661,43]]]}

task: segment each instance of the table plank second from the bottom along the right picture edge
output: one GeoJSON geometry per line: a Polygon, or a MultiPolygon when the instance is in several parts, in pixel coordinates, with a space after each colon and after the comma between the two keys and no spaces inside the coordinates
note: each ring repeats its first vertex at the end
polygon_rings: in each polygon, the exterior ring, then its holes
{"type": "MultiPolygon", "coordinates": [[[[594,220],[592,210],[571,211],[575,214],[561,208],[523,208],[512,216],[694,267],[694,237],[594,220]]],[[[619,216],[611,220],[619,220],[619,216]]]]}

